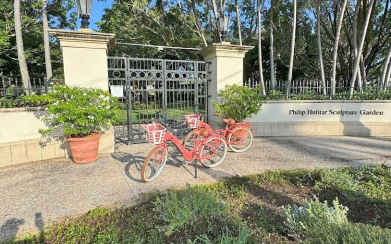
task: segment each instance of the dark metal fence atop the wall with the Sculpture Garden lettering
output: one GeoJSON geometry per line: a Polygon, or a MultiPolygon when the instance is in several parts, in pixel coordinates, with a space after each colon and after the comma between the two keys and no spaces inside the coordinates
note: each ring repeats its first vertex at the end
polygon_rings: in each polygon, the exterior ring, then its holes
{"type": "MultiPolygon", "coordinates": [[[[335,93],[332,95],[331,81],[325,85],[320,80],[277,80],[272,84],[265,81],[266,100],[391,100],[391,86],[381,86],[379,79],[374,79],[362,87],[353,87],[350,95],[350,87],[342,80],[337,82],[335,93]]],[[[248,79],[244,85],[257,89],[262,93],[259,80],[248,79]]]]}

